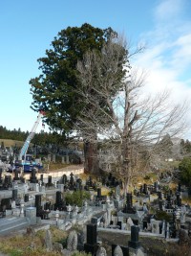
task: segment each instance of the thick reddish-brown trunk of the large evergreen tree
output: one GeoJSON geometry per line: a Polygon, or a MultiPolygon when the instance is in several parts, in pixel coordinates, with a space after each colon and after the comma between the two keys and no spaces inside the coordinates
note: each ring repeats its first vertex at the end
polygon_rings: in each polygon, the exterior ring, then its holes
{"type": "Polygon", "coordinates": [[[92,142],[84,142],[84,171],[90,174],[98,174],[97,145],[92,142]]]}

